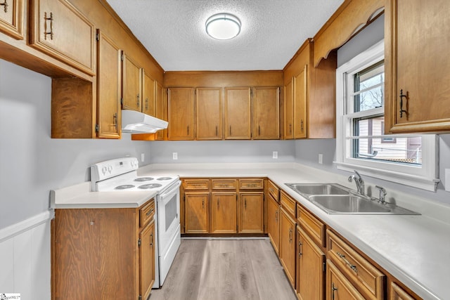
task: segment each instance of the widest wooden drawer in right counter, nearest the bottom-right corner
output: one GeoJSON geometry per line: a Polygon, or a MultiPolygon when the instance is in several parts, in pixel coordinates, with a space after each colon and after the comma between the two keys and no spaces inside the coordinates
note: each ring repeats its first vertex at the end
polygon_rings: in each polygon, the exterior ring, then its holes
{"type": "Polygon", "coordinates": [[[385,275],[346,242],[326,230],[328,257],[368,299],[383,299],[385,275]]]}

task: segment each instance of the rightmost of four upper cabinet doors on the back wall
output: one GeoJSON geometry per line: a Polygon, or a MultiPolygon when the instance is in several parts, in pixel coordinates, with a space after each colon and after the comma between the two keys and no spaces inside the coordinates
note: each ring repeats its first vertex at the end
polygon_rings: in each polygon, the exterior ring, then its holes
{"type": "Polygon", "coordinates": [[[280,138],[280,89],[256,87],[253,99],[253,138],[257,140],[280,138]]]}

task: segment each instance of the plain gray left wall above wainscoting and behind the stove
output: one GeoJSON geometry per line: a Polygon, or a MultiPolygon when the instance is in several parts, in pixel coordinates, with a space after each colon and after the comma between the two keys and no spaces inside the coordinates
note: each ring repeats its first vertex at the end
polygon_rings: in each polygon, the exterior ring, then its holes
{"type": "Polygon", "coordinates": [[[49,209],[49,191],[89,180],[89,165],[145,153],[131,141],[51,139],[51,79],[0,60],[0,229],[49,209]]]}

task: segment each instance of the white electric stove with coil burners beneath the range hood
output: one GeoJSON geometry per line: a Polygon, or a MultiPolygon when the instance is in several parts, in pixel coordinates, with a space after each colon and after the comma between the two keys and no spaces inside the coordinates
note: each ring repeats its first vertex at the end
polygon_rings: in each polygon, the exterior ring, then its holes
{"type": "Polygon", "coordinates": [[[139,161],[124,157],[91,165],[94,192],[133,193],[149,190],[155,196],[155,284],[164,283],[181,243],[179,176],[137,176],[139,161]]]}

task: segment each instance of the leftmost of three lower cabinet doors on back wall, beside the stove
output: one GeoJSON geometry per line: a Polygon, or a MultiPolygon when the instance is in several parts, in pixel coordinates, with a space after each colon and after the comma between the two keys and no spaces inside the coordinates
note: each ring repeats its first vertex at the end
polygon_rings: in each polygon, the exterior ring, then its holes
{"type": "Polygon", "coordinates": [[[184,193],[184,232],[208,233],[210,193],[184,193]]]}

